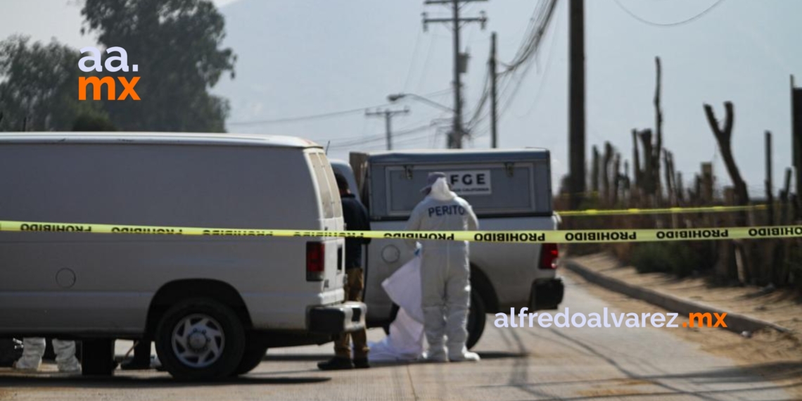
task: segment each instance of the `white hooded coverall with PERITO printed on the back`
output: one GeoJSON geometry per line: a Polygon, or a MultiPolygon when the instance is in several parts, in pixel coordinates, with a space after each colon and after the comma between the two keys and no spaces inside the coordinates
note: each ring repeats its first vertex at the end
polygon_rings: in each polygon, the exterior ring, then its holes
{"type": "MultiPolygon", "coordinates": [[[[478,229],[479,223],[471,205],[448,188],[443,173],[431,173],[429,183],[431,192],[412,210],[407,230],[478,229]]],[[[465,346],[471,302],[468,241],[424,240],[421,243],[421,306],[429,343],[426,358],[432,362],[445,362],[447,358],[452,362],[479,360],[479,355],[468,352],[465,346]],[[444,336],[448,338],[446,343],[444,336]]]]}

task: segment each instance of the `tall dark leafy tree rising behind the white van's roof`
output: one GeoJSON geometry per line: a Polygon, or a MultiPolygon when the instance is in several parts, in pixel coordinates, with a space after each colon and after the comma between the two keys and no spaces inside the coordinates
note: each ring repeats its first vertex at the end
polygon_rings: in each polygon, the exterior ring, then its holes
{"type": "MultiPolygon", "coordinates": [[[[236,56],[221,49],[225,21],[209,0],[86,0],[81,14],[106,47],[123,47],[140,76],[139,101],[104,101],[123,131],[223,132],[226,99],[208,90],[236,56]]],[[[114,54],[116,55],[116,54],[114,54]]],[[[104,59],[107,54],[103,52],[104,59]]]]}

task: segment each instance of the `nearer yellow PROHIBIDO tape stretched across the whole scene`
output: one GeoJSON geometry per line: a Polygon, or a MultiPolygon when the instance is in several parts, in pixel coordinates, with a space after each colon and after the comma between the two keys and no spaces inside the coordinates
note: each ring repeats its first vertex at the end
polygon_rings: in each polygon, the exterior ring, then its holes
{"type": "Polygon", "coordinates": [[[802,225],[709,229],[594,229],[554,231],[321,231],[292,229],[209,229],[156,225],[105,225],[0,221],[0,231],[156,234],[187,236],[363,237],[410,240],[557,243],[699,241],[802,237],[802,225]]]}

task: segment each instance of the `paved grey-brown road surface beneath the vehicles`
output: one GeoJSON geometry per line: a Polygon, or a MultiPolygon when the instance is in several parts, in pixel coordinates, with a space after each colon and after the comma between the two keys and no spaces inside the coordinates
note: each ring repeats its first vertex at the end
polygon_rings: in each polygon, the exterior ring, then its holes
{"type": "MultiPolygon", "coordinates": [[[[606,306],[568,280],[564,306],[589,314],[606,306]]],[[[674,329],[681,330],[681,329],[674,329]]],[[[372,330],[371,338],[382,338],[372,330]]],[[[228,383],[176,383],[159,372],[118,371],[109,379],[0,370],[0,399],[525,400],[792,399],[785,389],[706,354],[665,329],[506,328],[488,320],[480,363],[410,364],[322,372],[330,345],[270,350],[250,375],[228,383]]]]}

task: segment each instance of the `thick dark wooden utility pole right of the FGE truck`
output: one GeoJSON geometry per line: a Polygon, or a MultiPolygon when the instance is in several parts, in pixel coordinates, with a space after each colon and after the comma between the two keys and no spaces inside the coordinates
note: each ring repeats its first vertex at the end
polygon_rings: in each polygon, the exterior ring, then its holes
{"type": "Polygon", "coordinates": [[[585,195],[585,0],[569,0],[569,196],[579,209],[585,195]]]}

